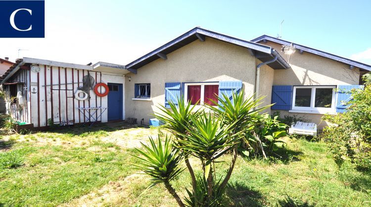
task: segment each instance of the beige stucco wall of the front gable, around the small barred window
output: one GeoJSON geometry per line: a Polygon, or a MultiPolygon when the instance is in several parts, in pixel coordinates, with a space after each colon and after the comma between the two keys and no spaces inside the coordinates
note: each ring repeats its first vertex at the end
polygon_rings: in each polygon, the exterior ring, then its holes
{"type": "Polygon", "coordinates": [[[206,37],[196,40],[140,69],[127,74],[125,82],[126,118],[135,117],[149,122],[157,105],[165,102],[166,82],[206,82],[242,80],[245,97],[252,96],[255,82],[255,58],[246,48],[206,37]],[[151,101],[134,101],[134,84],[151,84],[151,101]]]}

